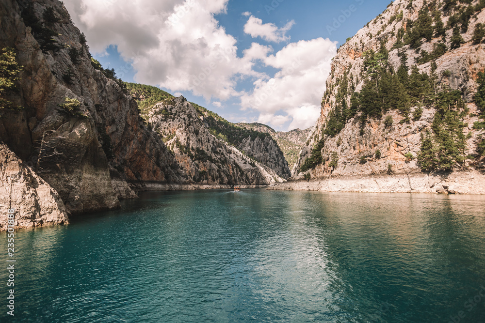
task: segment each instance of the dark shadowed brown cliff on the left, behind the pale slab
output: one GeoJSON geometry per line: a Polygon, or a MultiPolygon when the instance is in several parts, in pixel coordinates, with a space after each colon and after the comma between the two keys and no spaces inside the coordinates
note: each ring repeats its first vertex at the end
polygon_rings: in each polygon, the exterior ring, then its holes
{"type": "Polygon", "coordinates": [[[10,95],[23,108],[2,111],[0,139],[71,213],[117,208],[118,198],[134,196],[128,183],[183,182],[176,160],[146,129],[136,103],[116,79],[93,67],[61,2],[4,0],[0,15],[0,49],[14,48],[23,66],[18,91],[10,95]],[[47,19],[46,10],[54,18],[47,19]],[[65,98],[78,104],[62,108],[65,98]]]}

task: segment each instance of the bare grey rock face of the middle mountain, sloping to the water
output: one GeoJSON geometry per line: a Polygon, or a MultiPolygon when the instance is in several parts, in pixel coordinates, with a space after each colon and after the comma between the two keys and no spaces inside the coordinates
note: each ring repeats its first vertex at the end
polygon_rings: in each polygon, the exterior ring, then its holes
{"type": "Polygon", "coordinates": [[[156,104],[148,123],[173,151],[183,175],[200,184],[270,185],[283,182],[273,169],[252,160],[209,131],[184,97],[156,104]]]}

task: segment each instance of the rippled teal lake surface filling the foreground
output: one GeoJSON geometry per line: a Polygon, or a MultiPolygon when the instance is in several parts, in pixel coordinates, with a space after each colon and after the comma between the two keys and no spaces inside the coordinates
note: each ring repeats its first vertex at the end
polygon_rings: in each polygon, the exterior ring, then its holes
{"type": "Polygon", "coordinates": [[[144,193],[15,258],[1,322],[485,322],[483,196],[144,193]]]}

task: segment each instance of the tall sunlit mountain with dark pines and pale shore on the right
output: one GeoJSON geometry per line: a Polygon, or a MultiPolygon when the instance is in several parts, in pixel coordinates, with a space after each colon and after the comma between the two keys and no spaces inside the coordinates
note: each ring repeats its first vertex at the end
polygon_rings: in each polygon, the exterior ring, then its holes
{"type": "Polygon", "coordinates": [[[280,188],[483,193],[484,7],[397,0],[349,38],[280,188]]]}

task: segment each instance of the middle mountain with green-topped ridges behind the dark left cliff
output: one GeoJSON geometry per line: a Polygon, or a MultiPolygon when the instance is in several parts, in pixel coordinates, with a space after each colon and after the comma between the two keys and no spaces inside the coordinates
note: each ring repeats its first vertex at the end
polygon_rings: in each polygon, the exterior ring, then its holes
{"type": "MultiPolygon", "coordinates": [[[[188,103],[186,105],[187,107],[179,107],[175,104],[178,99],[156,87],[133,83],[126,83],[126,85],[129,92],[138,102],[140,113],[146,119],[148,126],[155,129],[162,137],[163,141],[169,144],[169,147],[172,147],[174,142],[185,142],[188,135],[191,135],[194,137],[194,139],[199,136],[207,137],[207,135],[210,135],[214,137],[215,140],[209,138],[204,138],[204,140],[209,140],[208,142],[210,142],[210,144],[215,144],[217,147],[221,145],[232,146],[232,148],[228,147],[230,151],[232,151],[233,148],[236,148],[243,155],[249,157],[254,162],[260,164],[260,166],[269,171],[269,173],[265,174],[263,177],[268,177],[268,175],[272,173],[274,173],[273,175],[276,175],[275,178],[281,177],[286,179],[291,176],[291,171],[288,167],[284,154],[281,152],[276,140],[273,139],[270,134],[254,129],[245,129],[237,124],[230,123],[216,113],[213,113],[208,109],[194,103],[188,103]],[[161,104],[164,107],[170,108],[168,110],[163,110],[161,104]],[[155,110],[157,112],[152,113],[155,110]],[[161,113],[162,115],[159,115],[161,113]],[[187,121],[183,119],[190,119],[191,126],[189,127],[188,124],[186,124],[187,121]],[[194,133],[194,128],[192,126],[195,126],[195,124],[197,124],[197,130],[195,130],[194,133]],[[203,133],[199,134],[198,129],[200,129],[201,126],[204,127],[204,131],[203,133]]],[[[184,103],[185,99],[182,99],[182,104],[184,103]]],[[[194,154],[194,149],[204,149],[209,155],[217,154],[217,150],[215,149],[216,147],[212,147],[210,145],[201,147],[199,144],[197,144],[196,140],[191,140],[190,142],[185,142],[184,144],[188,144],[193,150],[172,149],[176,155],[180,153],[184,154],[184,152],[189,153],[189,151],[190,154],[194,154]]],[[[190,155],[189,157],[192,160],[194,159],[190,155]]],[[[216,155],[212,155],[211,157],[216,158],[216,155]]],[[[228,158],[226,154],[222,154],[220,157],[222,159],[228,158]]],[[[189,175],[189,178],[197,179],[195,173],[198,172],[198,168],[193,163],[189,164],[185,162],[183,163],[186,168],[186,173],[191,174],[189,175]],[[191,166],[189,166],[189,164],[191,166]],[[195,167],[195,169],[190,169],[190,167],[195,167]]],[[[219,172],[224,173],[227,171],[227,169],[225,170],[224,167],[221,167],[220,163],[217,165],[219,165],[219,172]]],[[[253,174],[250,173],[247,175],[248,178],[254,177],[253,174]]],[[[269,178],[274,177],[273,175],[269,175],[269,178]]],[[[241,182],[241,179],[234,180],[236,183],[240,182],[246,185],[262,185],[265,183],[263,177],[254,177],[255,180],[252,181],[245,180],[241,182]]],[[[226,175],[219,176],[217,174],[212,174],[208,177],[207,181],[210,184],[226,184],[227,180],[228,178],[226,175]]],[[[279,179],[277,181],[279,181],[279,179]]],[[[229,183],[234,182],[229,180],[229,183]]],[[[272,182],[270,181],[267,184],[271,183],[272,182]]]]}

